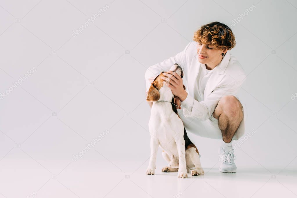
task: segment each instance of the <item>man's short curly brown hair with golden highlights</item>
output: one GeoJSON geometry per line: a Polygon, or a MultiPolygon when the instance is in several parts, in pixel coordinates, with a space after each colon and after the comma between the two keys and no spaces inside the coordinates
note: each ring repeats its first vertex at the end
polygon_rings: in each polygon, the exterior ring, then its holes
{"type": "Polygon", "coordinates": [[[212,22],[203,25],[194,33],[194,41],[213,45],[219,49],[232,49],[236,41],[232,30],[224,23],[212,22]]]}

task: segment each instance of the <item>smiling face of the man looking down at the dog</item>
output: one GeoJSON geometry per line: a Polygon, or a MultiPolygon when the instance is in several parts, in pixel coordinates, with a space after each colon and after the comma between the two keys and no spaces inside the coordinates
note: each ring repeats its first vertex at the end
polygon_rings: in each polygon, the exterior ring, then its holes
{"type": "Polygon", "coordinates": [[[211,65],[211,63],[216,63],[222,60],[222,52],[222,49],[217,49],[211,44],[197,43],[198,60],[202,64],[211,65]]]}

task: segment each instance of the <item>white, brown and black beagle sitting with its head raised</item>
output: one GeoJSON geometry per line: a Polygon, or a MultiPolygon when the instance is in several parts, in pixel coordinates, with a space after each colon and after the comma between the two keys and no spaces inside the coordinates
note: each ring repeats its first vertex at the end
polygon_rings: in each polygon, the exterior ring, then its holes
{"type": "MultiPolygon", "coordinates": [[[[175,71],[183,77],[183,71],[178,64],[173,65],[170,71],[175,71]]],[[[149,120],[151,157],[146,174],[154,175],[157,150],[160,146],[163,150],[162,156],[168,162],[168,165],[162,168],[162,172],[178,171],[179,178],[187,178],[189,170],[195,168],[191,170],[191,175],[203,175],[200,154],[187,136],[184,124],[178,116],[171,89],[163,84],[163,73],[164,71],[151,83],[146,97],[148,102],[153,102],[149,120]]]]}

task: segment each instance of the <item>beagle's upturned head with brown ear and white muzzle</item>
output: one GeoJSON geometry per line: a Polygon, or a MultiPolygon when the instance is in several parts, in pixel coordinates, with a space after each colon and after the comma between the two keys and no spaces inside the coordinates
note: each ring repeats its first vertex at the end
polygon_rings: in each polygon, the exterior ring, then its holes
{"type": "MultiPolygon", "coordinates": [[[[169,70],[175,71],[176,74],[181,76],[181,78],[184,76],[183,70],[181,69],[181,66],[179,66],[178,64],[174,64],[169,70]]],[[[161,74],[159,74],[156,77],[154,82],[151,83],[151,87],[149,88],[149,92],[146,97],[146,101],[155,102],[159,99],[171,101],[171,99],[173,97],[171,89],[166,84],[163,84],[164,80],[161,78],[162,76],[165,76],[163,74],[164,72],[165,71],[162,71],[161,74]]]]}

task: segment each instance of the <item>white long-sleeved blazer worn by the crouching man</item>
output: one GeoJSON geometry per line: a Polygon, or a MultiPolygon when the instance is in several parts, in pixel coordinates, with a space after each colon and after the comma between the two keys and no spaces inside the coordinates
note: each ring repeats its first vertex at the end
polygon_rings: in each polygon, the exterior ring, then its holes
{"type": "MultiPolygon", "coordinates": [[[[162,71],[168,71],[175,63],[180,65],[184,71],[183,82],[186,80],[186,84],[184,84],[188,95],[187,98],[181,102],[181,105],[184,107],[183,114],[185,117],[194,116],[201,120],[209,119],[219,103],[219,100],[223,96],[234,95],[237,98],[240,86],[246,79],[246,74],[241,64],[228,50],[221,63],[217,66],[218,68],[214,70],[208,79],[203,94],[204,100],[200,102],[195,100],[194,92],[198,87],[195,87],[194,85],[198,76],[199,67],[202,63],[199,63],[198,61],[197,42],[192,41],[187,44],[182,52],[179,52],[177,55],[170,57],[163,62],[150,66],[146,70],[146,92],[148,92],[155,77],[162,71]]],[[[238,127],[235,134],[235,140],[244,135],[245,117],[246,116],[244,116],[238,127]]]]}

